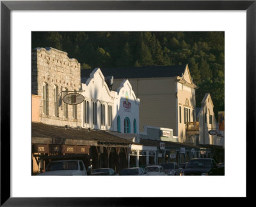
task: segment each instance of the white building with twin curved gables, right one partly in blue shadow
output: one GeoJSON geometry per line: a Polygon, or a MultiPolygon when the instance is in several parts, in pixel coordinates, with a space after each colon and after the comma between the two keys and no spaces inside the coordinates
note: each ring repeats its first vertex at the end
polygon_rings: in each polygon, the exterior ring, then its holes
{"type": "Polygon", "coordinates": [[[81,80],[82,126],[120,133],[139,133],[140,99],[136,98],[128,80],[120,83],[116,91],[105,81],[100,68],[81,80]]]}

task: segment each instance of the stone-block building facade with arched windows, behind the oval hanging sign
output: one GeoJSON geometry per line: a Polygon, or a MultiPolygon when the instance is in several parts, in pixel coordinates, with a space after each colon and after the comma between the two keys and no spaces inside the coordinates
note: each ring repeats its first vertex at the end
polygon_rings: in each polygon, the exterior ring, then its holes
{"type": "MultiPolygon", "coordinates": [[[[67,52],[49,48],[32,50],[32,95],[40,96],[40,122],[81,126],[81,104],[67,105],[62,91],[81,89],[80,63],[67,52]]],[[[70,93],[70,92],[68,92],[70,93]]]]}

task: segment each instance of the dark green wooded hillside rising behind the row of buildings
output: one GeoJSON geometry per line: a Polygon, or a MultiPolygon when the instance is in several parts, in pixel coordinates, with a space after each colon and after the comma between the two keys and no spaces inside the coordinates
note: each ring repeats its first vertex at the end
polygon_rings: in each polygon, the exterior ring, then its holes
{"type": "Polygon", "coordinates": [[[76,58],[81,69],[188,63],[196,107],[210,93],[214,114],[224,109],[224,32],[33,32],[32,48],[53,47],[76,58]]]}

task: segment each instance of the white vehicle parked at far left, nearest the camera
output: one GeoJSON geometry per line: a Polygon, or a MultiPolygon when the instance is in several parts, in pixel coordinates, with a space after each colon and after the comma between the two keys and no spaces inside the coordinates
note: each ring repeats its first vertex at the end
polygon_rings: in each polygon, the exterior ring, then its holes
{"type": "Polygon", "coordinates": [[[44,173],[38,176],[86,176],[86,168],[82,160],[56,160],[51,161],[44,173]]]}

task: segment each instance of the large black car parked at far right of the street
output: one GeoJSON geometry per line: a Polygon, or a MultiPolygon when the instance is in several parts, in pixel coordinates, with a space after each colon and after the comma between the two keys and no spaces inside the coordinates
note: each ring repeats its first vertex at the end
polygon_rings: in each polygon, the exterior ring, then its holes
{"type": "Polygon", "coordinates": [[[212,158],[194,158],[188,161],[180,175],[221,175],[220,169],[212,158]]]}

